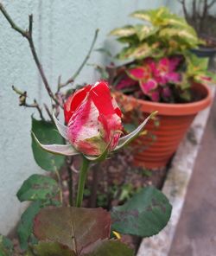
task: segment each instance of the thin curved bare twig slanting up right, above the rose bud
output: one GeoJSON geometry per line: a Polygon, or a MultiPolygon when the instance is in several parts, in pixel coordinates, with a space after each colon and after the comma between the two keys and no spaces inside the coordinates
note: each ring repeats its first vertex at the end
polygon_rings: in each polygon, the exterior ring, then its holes
{"type": "Polygon", "coordinates": [[[69,85],[70,83],[73,83],[73,81],[78,77],[80,71],[86,65],[86,62],[88,61],[88,59],[90,58],[90,56],[92,54],[92,49],[94,48],[95,42],[97,41],[97,38],[98,38],[98,31],[99,31],[99,29],[95,30],[95,34],[94,34],[94,37],[93,37],[93,40],[92,40],[91,47],[90,47],[85,59],[82,61],[81,65],[79,66],[77,71],[73,74],[73,76],[71,78],[69,78],[65,83],[60,83],[60,77],[59,77],[58,91],[60,91],[60,88],[65,87],[65,86],[69,85]]]}

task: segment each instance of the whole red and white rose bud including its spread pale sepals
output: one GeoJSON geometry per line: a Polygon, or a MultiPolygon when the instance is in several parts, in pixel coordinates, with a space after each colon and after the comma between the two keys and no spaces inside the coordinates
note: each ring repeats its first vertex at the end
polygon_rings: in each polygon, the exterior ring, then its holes
{"type": "Polygon", "coordinates": [[[143,127],[156,112],[143,120],[136,130],[120,138],[122,112],[111,97],[108,84],[99,81],[73,93],[64,106],[66,125],[54,116],[54,123],[67,144],[41,144],[32,133],[41,149],[50,153],[75,156],[80,153],[89,161],[103,161],[110,151],[122,149],[137,138],[143,127]]]}

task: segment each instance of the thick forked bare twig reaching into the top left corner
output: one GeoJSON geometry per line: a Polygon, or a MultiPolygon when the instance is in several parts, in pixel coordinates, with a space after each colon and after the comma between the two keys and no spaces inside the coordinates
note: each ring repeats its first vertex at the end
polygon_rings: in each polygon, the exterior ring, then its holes
{"type": "MultiPolygon", "coordinates": [[[[48,92],[48,95],[50,96],[51,99],[54,100],[54,102],[57,104],[57,105],[60,105],[60,102],[55,98],[54,96],[54,93],[52,92],[51,90],[51,87],[49,86],[48,84],[48,80],[47,80],[47,77],[46,75],[44,74],[44,71],[43,71],[43,68],[41,66],[41,62],[39,61],[39,58],[36,54],[36,50],[35,50],[35,44],[34,44],[34,41],[33,41],[33,37],[32,37],[32,28],[33,28],[33,16],[30,15],[29,16],[29,30],[23,30],[21,29],[20,27],[18,27],[16,25],[16,23],[11,19],[10,15],[8,14],[8,12],[4,9],[3,7],[3,4],[0,3],[0,10],[2,11],[3,13],[3,16],[7,19],[7,21],[10,23],[12,29],[15,29],[16,32],[18,32],[19,34],[21,34],[23,37],[25,37],[28,42],[29,42],[29,47],[31,49],[31,53],[34,57],[34,60],[35,60],[35,64],[36,64],[36,67],[38,68],[38,71],[39,73],[41,74],[41,79],[44,83],[44,86],[46,87],[47,89],[47,92],[48,92]]],[[[60,105],[61,107],[63,107],[62,105],[60,105]]]]}

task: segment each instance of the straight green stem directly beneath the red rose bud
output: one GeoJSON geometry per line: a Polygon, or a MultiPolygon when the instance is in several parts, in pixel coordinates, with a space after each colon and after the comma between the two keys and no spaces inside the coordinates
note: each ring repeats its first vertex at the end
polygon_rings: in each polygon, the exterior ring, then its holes
{"type": "Polygon", "coordinates": [[[89,163],[90,163],[89,160],[86,159],[86,157],[83,157],[82,167],[81,167],[81,170],[79,173],[79,184],[78,184],[76,207],[81,207],[81,204],[82,204],[84,187],[85,187],[89,163]]]}

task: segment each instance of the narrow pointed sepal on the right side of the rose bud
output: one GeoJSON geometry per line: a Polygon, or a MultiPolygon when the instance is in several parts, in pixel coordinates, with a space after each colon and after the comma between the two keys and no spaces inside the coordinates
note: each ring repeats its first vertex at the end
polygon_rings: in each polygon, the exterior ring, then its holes
{"type": "Polygon", "coordinates": [[[139,133],[143,130],[144,126],[149,122],[150,118],[153,118],[156,115],[157,112],[152,112],[148,118],[145,118],[143,123],[137,127],[136,130],[130,132],[128,135],[122,137],[118,141],[118,146],[115,148],[114,151],[122,149],[125,145],[130,144],[131,141],[133,141],[139,133]]]}

